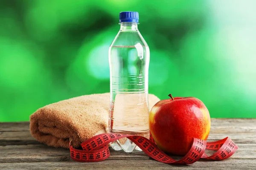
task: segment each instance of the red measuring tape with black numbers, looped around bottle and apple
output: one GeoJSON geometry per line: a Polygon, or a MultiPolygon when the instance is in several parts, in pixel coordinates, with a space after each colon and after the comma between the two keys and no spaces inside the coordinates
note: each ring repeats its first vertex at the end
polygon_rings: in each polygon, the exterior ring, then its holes
{"type": "Polygon", "coordinates": [[[232,156],[238,149],[238,146],[229,137],[216,142],[206,142],[202,139],[193,138],[189,152],[179,161],[175,161],[157,147],[151,135],[149,140],[143,136],[102,133],[83,142],[81,144],[83,150],[73,148],[71,140],[70,156],[74,161],[80,162],[103,161],[110,156],[108,144],[125,137],[137,144],[151,158],[167,164],[192,164],[200,158],[215,161],[223,160],[232,156]],[[207,156],[204,153],[205,149],[217,151],[212,156],[207,156]]]}

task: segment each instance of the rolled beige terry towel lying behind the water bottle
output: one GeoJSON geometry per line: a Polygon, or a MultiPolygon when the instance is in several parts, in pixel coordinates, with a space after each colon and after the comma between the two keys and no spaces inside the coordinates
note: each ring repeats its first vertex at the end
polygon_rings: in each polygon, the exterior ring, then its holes
{"type": "MultiPolygon", "coordinates": [[[[30,116],[32,136],[49,146],[69,148],[79,145],[108,127],[110,94],[91,94],[63,100],[38,109],[30,116]]],[[[151,109],[160,99],[148,95],[151,109]]]]}

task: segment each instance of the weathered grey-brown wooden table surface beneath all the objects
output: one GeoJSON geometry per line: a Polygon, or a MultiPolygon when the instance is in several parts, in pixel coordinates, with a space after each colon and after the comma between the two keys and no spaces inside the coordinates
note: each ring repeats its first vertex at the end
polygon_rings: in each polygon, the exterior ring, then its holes
{"type": "MultiPolygon", "coordinates": [[[[37,142],[29,132],[29,122],[0,123],[0,170],[84,169],[84,170],[256,170],[256,119],[212,119],[208,142],[229,136],[239,149],[229,159],[191,165],[164,164],[141,151],[125,153],[110,148],[111,156],[101,162],[81,163],[70,151],[37,142]]],[[[207,153],[212,153],[208,151],[207,153]]],[[[174,159],[181,157],[173,156],[174,159]]]]}

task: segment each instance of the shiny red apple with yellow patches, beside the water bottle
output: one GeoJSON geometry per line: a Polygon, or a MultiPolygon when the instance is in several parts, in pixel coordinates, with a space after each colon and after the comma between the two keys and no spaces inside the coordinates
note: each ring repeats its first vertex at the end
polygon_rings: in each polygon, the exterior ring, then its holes
{"type": "Polygon", "coordinates": [[[166,153],[185,155],[192,138],[207,140],[209,111],[195,97],[175,97],[157,102],[149,114],[149,129],[157,146],[166,153]]]}

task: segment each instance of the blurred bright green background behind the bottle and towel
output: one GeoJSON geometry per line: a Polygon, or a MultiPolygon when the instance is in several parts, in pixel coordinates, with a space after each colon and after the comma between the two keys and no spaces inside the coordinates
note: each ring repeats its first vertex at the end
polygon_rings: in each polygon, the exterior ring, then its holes
{"type": "Polygon", "coordinates": [[[140,14],[149,93],[195,96],[211,117],[256,118],[255,0],[0,0],[0,122],[108,92],[120,11],[140,14]]]}

